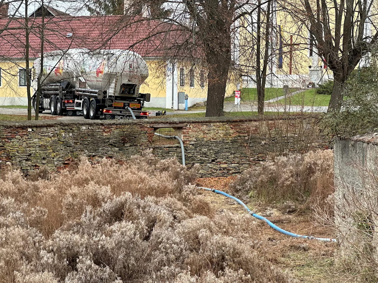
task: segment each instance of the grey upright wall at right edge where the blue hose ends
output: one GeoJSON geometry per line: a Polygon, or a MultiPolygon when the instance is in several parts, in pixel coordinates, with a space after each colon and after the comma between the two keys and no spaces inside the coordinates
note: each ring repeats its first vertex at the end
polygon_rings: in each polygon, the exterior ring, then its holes
{"type": "Polygon", "coordinates": [[[378,259],[378,133],[336,138],[334,160],[340,256],[374,250],[378,259]]]}

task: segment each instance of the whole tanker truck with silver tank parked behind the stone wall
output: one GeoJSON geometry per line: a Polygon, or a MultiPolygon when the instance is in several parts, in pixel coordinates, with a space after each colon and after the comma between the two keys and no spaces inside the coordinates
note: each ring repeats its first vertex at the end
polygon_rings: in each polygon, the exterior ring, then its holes
{"type": "MultiPolygon", "coordinates": [[[[39,73],[40,58],[34,61],[39,73]]],[[[34,76],[34,111],[37,82],[34,76]]],[[[148,77],[146,61],[132,51],[68,49],[43,53],[39,112],[51,115],[83,115],[85,119],[147,118],[142,111],[150,94],[139,92],[148,77]],[[132,111],[130,111],[132,109],[132,111]]]]}

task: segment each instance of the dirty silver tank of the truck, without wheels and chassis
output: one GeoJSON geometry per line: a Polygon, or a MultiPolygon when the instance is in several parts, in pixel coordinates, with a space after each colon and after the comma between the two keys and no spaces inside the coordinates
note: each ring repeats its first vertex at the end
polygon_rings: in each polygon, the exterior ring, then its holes
{"type": "MultiPolygon", "coordinates": [[[[69,82],[76,88],[102,90],[119,94],[122,84],[135,84],[135,92],[127,96],[138,97],[139,87],[148,77],[146,61],[137,53],[122,49],[68,49],[43,54],[42,85],[69,82]],[[85,83],[85,87],[84,87],[85,83]]],[[[36,73],[40,58],[34,61],[36,73]]],[[[33,81],[37,89],[37,80],[33,81]]]]}

